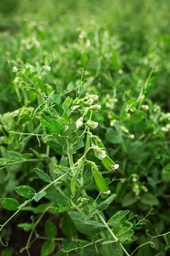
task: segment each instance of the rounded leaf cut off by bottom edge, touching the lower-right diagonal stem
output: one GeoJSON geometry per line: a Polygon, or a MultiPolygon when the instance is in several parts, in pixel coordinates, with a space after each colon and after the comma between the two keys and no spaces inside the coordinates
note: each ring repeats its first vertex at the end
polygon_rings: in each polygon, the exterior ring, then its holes
{"type": "Polygon", "coordinates": [[[102,245],[100,253],[103,256],[123,256],[123,251],[119,243],[109,243],[102,245]]]}

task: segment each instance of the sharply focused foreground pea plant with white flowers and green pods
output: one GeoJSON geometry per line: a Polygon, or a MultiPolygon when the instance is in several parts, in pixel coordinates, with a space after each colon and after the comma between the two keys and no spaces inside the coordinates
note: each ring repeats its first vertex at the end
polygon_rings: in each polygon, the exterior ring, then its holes
{"type": "MultiPolygon", "coordinates": [[[[116,178],[110,180],[104,174],[114,174],[119,164],[109,157],[102,140],[95,135],[99,124],[93,121],[93,112],[99,111],[101,105],[96,103],[97,95],[85,96],[83,93],[84,70],[79,75],[75,99],[68,96],[63,101],[55,91],[51,91],[49,96],[42,92],[38,84],[34,84],[27,76],[28,70],[24,73],[15,65],[18,74],[14,83],[20,82],[22,85],[22,95],[17,86],[15,89],[19,99],[24,99],[25,106],[2,115],[1,129],[4,136],[9,134],[8,139],[15,141],[16,148],[24,148],[24,143],[30,145],[30,139],[36,137],[40,148],[42,144],[46,145],[46,153],[40,153],[35,148],[31,148],[33,153],[22,153],[22,149],[20,153],[10,149],[9,153],[9,150],[1,148],[1,169],[7,168],[7,172],[10,172],[11,166],[20,168],[20,164],[29,162],[37,162],[37,166],[34,166],[34,172],[29,173],[29,180],[25,179],[25,185],[15,186],[15,192],[26,198],[25,201],[20,199],[22,202],[19,203],[17,194],[15,198],[18,200],[6,197],[0,199],[5,209],[14,211],[0,225],[0,232],[18,213],[22,216],[23,211],[32,211],[31,222],[18,224],[24,231],[30,231],[26,246],[20,250],[26,250],[28,256],[31,255],[29,248],[37,239],[46,240],[42,244],[41,256],[52,254],[56,246],[60,247],[56,256],[110,256],[113,252],[115,256],[134,254],[138,248],[129,253],[127,245],[137,239],[134,229],[140,229],[145,224],[153,208],[139,222],[135,221],[129,210],[120,210],[113,212],[111,217],[107,216],[105,210],[116,196],[114,191],[110,191],[109,185],[116,178]],[[25,82],[27,84],[23,86],[25,82]],[[39,97],[38,107],[26,106],[29,103],[26,92],[31,92],[32,102],[39,97]],[[12,121],[9,122],[10,119],[15,120],[15,127],[12,121]],[[31,158],[33,155],[36,157],[31,158]],[[29,182],[30,179],[32,182],[29,182]],[[30,183],[35,186],[30,186],[30,183]],[[36,228],[46,213],[51,218],[45,221],[46,236],[42,237],[36,228]],[[65,238],[57,235],[56,219],[60,220],[65,238]]],[[[8,245],[2,236],[0,242],[3,246],[8,245]]],[[[147,243],[154,245],[152,242],[147,243]]]]}

